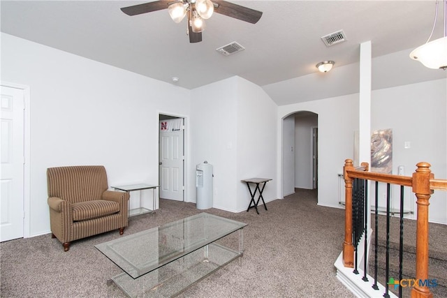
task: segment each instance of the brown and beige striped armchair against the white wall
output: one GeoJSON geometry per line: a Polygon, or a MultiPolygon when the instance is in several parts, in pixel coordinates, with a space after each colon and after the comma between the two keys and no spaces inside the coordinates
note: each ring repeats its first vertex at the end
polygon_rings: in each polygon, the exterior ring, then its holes
{"type": "Polygon", "coordinates": [[[108,191],[102,165],[47,169],[52,238],[70,249],[73,240],[124,228],[129,224],[129,193],[108,191]]]}

